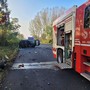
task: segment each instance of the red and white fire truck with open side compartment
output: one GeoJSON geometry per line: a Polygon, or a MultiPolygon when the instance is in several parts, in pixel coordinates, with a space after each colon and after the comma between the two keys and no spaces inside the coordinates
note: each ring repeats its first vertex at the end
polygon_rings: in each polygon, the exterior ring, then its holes
{"type": "Polygon", "coordinates": [[[73,68],[90,81],[90,0],[53,22],[53,55],[61,69],[73,68]]]}

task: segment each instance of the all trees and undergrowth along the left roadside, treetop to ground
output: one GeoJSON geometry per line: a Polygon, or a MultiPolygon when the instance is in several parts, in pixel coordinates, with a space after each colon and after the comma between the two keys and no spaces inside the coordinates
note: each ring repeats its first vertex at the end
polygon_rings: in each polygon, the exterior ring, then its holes
{"type": "Polygon", "coordinates": [[[5,55],[11,60],[18,51],[18,42],[23,39],[18,30],[18,18],[11,18],[7,0],[0,1],[0,62],[5,55]]]}

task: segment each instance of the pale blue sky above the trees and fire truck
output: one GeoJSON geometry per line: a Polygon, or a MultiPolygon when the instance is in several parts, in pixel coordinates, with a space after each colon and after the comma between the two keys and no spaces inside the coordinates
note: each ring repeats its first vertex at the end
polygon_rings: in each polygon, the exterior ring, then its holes
{"type": "Polygon", "coordinates": [[[29,22],[44,8],[65,7],[67,10],[73,5],[80,6],[88,0],[8,0],[10,17],[18,18],[21,25],[20,33],[25,38],[30,36],[29,22]]]}

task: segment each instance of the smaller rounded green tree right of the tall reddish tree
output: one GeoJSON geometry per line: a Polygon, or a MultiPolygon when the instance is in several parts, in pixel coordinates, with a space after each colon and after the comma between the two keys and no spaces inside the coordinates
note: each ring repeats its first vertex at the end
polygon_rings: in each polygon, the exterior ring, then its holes
{"type": "Polygon", "coordinates": [[[19,42],[19,40],[23,39],[23,35],[20,35],[20,33],[18,32],[19,28],[21,27],[18,22],[18,18],[12,18],[11,22],[8,25],[6,40],[9,44],[15,44],[19,42]]]}

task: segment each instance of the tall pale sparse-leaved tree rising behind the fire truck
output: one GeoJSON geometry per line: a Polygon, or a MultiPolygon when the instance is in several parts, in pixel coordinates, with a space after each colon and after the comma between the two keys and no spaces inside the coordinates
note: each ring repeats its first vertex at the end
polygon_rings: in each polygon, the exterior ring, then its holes
{"type": "Polygon", "coordinates": [[[39,39],[41,43],[52,43],[53,21],[60,17],[66,9],[64,7],[46,8],[38,12],[29,24],[32,36],[39,39]]]}

